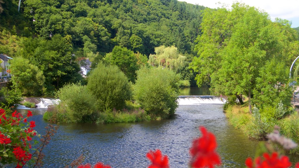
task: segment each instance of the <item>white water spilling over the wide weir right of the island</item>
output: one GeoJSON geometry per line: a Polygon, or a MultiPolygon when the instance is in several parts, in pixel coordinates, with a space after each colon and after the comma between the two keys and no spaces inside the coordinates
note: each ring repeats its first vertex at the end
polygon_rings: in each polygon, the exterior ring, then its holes
{"type": "Polygon", "coordinates": [[[179,105],[193,105],[193,104],[224,104],[226,99],[219,96],[179,96],[179,105]]]}

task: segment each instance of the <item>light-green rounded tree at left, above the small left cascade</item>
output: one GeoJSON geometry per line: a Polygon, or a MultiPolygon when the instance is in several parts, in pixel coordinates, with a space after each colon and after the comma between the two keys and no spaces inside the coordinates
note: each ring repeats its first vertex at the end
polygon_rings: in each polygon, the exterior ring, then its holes
{"type": "Polygon", "coordinates": [[[45,77],[42,71],[29,63],[28,59],[16,57],[10,60],[11,82],[24,95],[42,94],[45,77]]]}

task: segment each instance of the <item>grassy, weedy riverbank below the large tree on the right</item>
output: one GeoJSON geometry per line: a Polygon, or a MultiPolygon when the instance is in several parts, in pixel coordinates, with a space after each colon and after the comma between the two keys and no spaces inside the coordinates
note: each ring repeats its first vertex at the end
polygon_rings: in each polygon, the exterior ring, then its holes
{"type": "MultiPolygon", "coordinates": [[[[273,131],[275,125],[278,125],[280,134],[299,143],[298,112],[292,110],[286,116],[277,118],[273,109],[258,110],[254,108],[252,114],[250,114],[246,105],[229,105],[224,112],[229,123],[235,128],[242,130],[249,138],[265,140],[266,135],[273,131]]],[[[298,147],[292,149],[290,153],[299,155],[298,147]]]]}

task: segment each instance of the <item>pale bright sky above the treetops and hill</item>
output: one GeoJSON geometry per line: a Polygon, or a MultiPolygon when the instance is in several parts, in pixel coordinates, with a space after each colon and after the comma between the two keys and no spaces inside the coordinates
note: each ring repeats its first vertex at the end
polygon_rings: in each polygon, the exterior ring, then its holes
{"type": "MultiPolygon", "coordinates": [[[[179,0],[190,4],[199,4],[209,8],[221,7],[227,4],[231,7],[235,0],[179,0]],[[219,2],[221,4],[219,4],[219,2]]],[[[271,20],[275,18],[287,19],[292,21],[292,28],[299,27],[299,0],[242,0],[246,5],[254,6],[267,12],[271,20]]]]}

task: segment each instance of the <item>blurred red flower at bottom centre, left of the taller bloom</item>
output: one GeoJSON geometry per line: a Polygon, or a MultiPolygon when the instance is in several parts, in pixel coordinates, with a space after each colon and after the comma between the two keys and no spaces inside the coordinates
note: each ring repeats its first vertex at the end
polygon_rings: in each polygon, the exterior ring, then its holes
{"type": "Polygon", "coordinates": [[[148,168],[169,168],[167,155],[163,156],[159,149],[155,152],[149,151],[147,158],[152,162],[148,168]]]}

